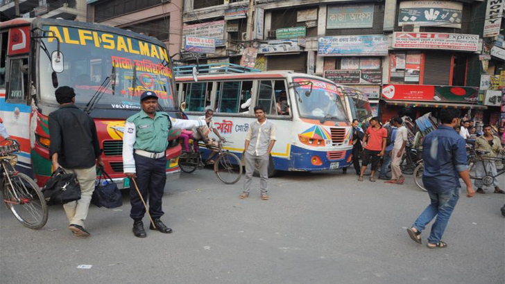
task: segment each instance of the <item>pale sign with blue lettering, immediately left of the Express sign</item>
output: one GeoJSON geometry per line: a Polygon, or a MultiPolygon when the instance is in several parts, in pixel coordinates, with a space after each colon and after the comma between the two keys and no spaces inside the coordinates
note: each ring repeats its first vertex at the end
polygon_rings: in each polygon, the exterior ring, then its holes
{"type": "MultiPolygon", "coordinates": [[[[478,37],[478,36],[477,36],[478,37]]],[[[319,56],[387,56],[387,35],[319,37],[319,56]]]]}

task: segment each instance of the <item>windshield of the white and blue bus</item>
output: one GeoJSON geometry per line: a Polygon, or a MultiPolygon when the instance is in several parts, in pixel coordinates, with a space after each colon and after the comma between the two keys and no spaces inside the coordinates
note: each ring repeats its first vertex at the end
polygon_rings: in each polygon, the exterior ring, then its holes
{"type": "Polygon", "coordinates": [[[339,89],[324,81],[295,78],[300,117],[319,121],[348,121],[339,89]]]}

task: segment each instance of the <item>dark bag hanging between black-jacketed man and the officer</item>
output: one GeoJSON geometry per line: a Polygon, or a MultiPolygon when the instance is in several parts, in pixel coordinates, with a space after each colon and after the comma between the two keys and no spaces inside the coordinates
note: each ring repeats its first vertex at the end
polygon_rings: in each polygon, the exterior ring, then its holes
{"type": "Polygon", "coordinates": [[[123,197],[121,196],[121,190],[117,188],[117,185],[103,168],[100,168],[99,172],[99,182],[93,191],[91,203],[110,209],[122,206],[123,197]],[[103,181],[102,177],[104,177],[103,181]]]}

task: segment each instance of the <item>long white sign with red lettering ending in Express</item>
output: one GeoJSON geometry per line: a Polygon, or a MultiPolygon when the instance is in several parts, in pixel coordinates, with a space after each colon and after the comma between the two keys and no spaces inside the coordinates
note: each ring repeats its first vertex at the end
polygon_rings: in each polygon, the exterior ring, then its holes
{"type": "Polygon", "coordinates": [[[393,33],[393,48],[473,51],[479,48],[479,35],[460,33],[393,33]]]}

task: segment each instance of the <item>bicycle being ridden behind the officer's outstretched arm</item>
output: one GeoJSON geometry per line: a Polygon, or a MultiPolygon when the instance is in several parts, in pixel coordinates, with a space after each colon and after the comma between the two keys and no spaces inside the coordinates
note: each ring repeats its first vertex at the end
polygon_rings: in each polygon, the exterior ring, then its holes
{"type": "MultiPolygon", "coordinates": [[[[192,143],[198,143],[193,140],[192,143]]],[[[242,163],[237,155],[223,150],[226,141],[217,141],[217,145],[197,144],[194,152],[183,152],[179,157],[179,167],[182,172],[191,173],[197,168],[202,169],[205,165],[202,161],[200,145],[209,150],[217,151],[217,159],[214,161],[214,172],[225,184],[235,184],[242,177],[242,163]]]]}

